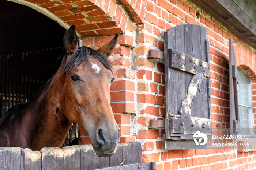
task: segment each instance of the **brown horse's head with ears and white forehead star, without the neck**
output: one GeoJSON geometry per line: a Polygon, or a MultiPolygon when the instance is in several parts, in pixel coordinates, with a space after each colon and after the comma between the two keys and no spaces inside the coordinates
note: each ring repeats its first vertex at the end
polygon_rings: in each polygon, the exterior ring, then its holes
{"type": "Polygon", "coordinates": [[[64,81],[60,110],[89,133],[94,151],[100,157],[113,155],[120,141],[120,129],[110,106],[114,76],[107,59],[116,41],[117,35],[96,51],[78,47],[75,25],[64,35],[67,55],[61,65],[64,81]]]}

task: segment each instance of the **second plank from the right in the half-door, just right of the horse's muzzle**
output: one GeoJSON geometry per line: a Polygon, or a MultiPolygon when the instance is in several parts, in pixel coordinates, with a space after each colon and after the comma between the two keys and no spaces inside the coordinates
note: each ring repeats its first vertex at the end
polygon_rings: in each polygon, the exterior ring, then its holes
{"type": "Polygon", "coordinates": [[[123,157],[123,164],[122,165],[129,165],[133,164],[133,147],[132,143],[122,143],[122,157],[123,157]]]}

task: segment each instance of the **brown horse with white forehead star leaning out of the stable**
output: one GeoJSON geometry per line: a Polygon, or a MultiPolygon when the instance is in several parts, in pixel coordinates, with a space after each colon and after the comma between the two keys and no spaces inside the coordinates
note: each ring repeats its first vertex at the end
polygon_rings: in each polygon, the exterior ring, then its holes
{"type": "Polygon", "coordinates": [[[111,64],[117,35],[98,51],[78,47],[75,25],[64,35],[61,67],[33,100],[12,107],[0,118],[0,147],[41,150],[62,147],[73,122],[87,130],[98,156],[114,154],[120,141],[110,106],[111,64]]]}

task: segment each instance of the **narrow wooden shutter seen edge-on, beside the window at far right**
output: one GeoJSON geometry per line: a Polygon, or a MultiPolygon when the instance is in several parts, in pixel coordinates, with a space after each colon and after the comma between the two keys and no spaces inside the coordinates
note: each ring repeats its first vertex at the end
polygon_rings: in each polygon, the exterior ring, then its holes
{"type": "Polygon", "coordinates": [[[229,39],[229,112],[230,135],[240,132],[237,84],[239,82],[232,39],[229,39]]]}

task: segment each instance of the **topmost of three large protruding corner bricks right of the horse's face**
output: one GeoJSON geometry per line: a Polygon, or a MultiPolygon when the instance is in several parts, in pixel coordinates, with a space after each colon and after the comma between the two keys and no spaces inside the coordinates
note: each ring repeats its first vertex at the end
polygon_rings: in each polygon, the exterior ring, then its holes
{"type": "Polygon", "coordinates": [[[111,83],[110,91],[129,90],[135,91],[134,82],[129,80],[115,80],[111,83]]]}

